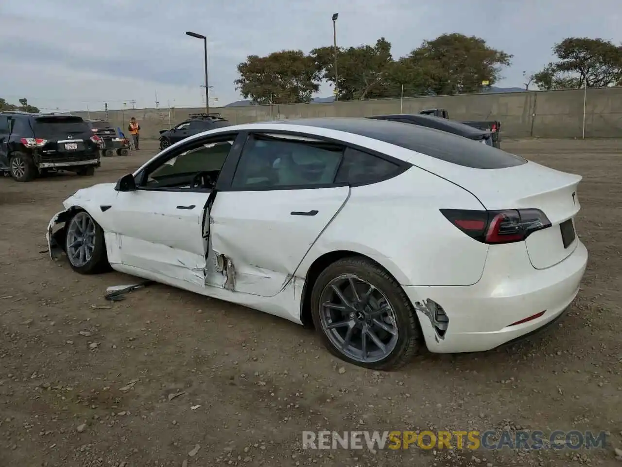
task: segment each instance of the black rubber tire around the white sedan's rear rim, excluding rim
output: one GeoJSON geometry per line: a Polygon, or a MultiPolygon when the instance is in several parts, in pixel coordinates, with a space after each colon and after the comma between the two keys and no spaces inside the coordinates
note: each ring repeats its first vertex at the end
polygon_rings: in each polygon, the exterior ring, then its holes
{"type": "Polygon", "coordinates": [[[338,260],[320,273],[313,284],[311,293],[311,313],[313,324],[320,339],[328,351],[339,359],[374,370],[394,370],[404,366],[419,351],[423,336],[414,308],[406,293],[397,281],[378,264],[364,257],[349,257],[338,260]],[[374,362],[362,362],[344,354],[327,336],[320,318],[320,298],[330,281],[339,276],[354,274],[361,280],[368,281],[381,291],[389,301],[395,314],[397,343],[394,349],[383,359],[374,362]]]}

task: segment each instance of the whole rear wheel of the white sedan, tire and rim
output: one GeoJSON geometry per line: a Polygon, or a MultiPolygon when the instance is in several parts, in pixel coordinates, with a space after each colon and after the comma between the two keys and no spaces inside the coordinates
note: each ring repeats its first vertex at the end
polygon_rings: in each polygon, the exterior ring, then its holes
{"type": "Polygon", "coordinates": [[[318,276],[313,323],[325,346],[347,362],[396,369],[422,342],[412,304],[397,281],[363,257],[338,260],[318,276]]]}

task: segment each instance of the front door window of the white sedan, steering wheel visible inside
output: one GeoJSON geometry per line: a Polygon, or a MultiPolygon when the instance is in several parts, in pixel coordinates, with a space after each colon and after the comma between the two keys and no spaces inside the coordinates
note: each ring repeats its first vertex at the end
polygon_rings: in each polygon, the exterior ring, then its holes
{"type": "Polygon", "coordinates": [[[208,143],[180,148],[176,154],[151,171],[143,180],[147,188],[211,188],[233,146],[236,135],[212,139],[208,143]],[[201,175],[201,177],[198,177],[201,175]],[[200,186],[197,185],[201,183],[200,186]]]}

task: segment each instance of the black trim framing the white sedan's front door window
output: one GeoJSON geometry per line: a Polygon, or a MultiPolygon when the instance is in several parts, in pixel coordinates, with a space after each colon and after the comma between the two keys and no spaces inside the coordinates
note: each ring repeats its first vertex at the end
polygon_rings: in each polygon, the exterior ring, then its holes
{"type": "Polygon", "coordinates": [[[183,192],[183,193],[210,193],[218,190],[219,181],[223,179],[223,177],[228,177],[228,171],[225,170],[225,167],[231,164],[231,160],[238,161],[239,153],[241,153],[241,146],[243,141],[246,141],[246,131],[223,131],[222,133],[210,134],[204,136],[203,138],[193,139],[192,141],[188,141],[183,146],[179,146],[179,148],[175,148],[169,151],[163,151],[160,155],[151,161],[147,166],[143,167],[135,176],[134,181],[136,181],[136,189],[139,191],[164,191],[164,192],[183,192]],[[177,188],[177,187],[147,187],[144,186],[145,177],[147,174],[156,170],[158,167],[162,166],[162,164],[170,161],[170,159],[179,156],[186,151],[190,151],[191,149],[197,149],[203,144],[206,144],[206,141],[210,141],[210,139],[221,139],[226,138],[227,136],[235,135],[233,146],[231,146],[231,150],[227,157],[225,158],[225,163],[223,167],[220,169],[220,174],[218,174],[218,179],[212,188],[177,188]],[[244,138],[244,139],[242,139],[244,138]]]}

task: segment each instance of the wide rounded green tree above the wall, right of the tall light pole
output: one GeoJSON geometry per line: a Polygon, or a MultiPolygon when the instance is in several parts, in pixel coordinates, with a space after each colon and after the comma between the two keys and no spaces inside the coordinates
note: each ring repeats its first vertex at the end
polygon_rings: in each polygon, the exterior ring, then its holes
{"type": "Polygon", "coordinates": [[[429,92],[435,95],[480,92],[482,82],[501,79],[513,55],[488,47],[480,37],[442,34],[412,50],[407,60],[419,67],[429,92]]]}

